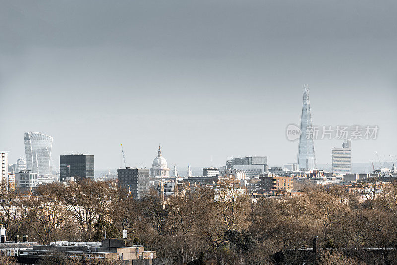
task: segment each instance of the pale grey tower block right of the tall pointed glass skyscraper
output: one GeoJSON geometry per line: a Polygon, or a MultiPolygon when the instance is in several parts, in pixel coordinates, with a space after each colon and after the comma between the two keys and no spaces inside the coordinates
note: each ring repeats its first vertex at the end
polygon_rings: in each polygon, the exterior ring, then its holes
{"type": "Polygon", "coordinates": [[[336,174],[351,173],[351,140],[343,142],[342,148],[332,148],[332,172],[336,174]]]}

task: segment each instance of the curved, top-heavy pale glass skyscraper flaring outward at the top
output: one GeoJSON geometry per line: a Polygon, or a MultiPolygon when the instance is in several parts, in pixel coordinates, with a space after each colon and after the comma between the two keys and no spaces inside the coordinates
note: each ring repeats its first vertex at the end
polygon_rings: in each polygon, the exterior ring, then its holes
{"type": "Polygon", "coordinates": [[[26,170],[49,174],[53,138],[38,132],[25,132],[26,170]]]}

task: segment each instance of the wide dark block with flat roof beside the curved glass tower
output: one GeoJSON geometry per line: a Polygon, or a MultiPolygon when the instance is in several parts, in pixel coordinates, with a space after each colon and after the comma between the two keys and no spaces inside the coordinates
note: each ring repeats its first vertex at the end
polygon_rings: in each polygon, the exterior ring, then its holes
{"type": "Polygon", "coordinates": [[[76,180],[89,178],[94,180],[94,156],[85,154],[71,154],[59,156],[60,180],[75,177],[76,180]]]}

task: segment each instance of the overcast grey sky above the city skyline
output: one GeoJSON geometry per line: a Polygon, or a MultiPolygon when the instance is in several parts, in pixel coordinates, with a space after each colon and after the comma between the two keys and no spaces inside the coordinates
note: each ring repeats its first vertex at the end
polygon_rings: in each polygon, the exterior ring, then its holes
{"type": "MultiPolygon", "coordinates": [[[[0,150],[54,137],[95,168],[296,162],[303,85],[313,124],[378,125],[353,162],[397,155],[397,1],[0,1],[0,150]]],[[[331,164],[337,140],[315,141],[331,164]]]]}

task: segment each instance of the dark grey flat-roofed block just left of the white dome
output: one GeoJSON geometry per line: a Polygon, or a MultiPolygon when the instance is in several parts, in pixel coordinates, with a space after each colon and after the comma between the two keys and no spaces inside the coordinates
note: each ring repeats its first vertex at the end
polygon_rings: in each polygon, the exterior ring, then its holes
{"type": "Polygon", "coordinates": [[[117,170],[120,187],[131,191],[134,199],[142,199],[149,191],[149,169],[125,168],[117,170]]]}

